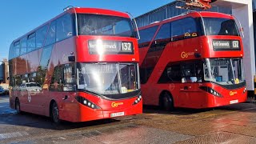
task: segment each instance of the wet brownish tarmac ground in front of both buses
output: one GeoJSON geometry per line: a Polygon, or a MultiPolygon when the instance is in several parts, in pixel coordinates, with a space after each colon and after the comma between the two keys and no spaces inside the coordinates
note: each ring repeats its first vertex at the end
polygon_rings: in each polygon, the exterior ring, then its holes
{"type": "Polygon", "coordinates": [[[173,112],[146,106],[144,114],[93,122],[62,122],[16,114],[0,96],[0,143],[256,143],[256,104],[173,112]]]}

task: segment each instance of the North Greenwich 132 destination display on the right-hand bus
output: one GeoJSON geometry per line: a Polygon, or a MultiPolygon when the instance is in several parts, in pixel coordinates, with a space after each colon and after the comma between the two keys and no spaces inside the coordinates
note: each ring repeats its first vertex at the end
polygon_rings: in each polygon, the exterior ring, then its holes
{"type": "Polygon", "coordinates": [[[218,50],[241,50],[238,40],[213,40],[214,51],[218,50]]]}

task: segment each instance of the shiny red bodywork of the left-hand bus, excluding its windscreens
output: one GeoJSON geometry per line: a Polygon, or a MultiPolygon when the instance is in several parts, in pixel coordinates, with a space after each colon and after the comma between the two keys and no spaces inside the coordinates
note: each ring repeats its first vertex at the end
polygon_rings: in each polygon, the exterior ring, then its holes
{"type": "MultiPolygon", "coordinates": [[[[42,26],[46,26],[49,23],[56,21],[65,14],[71,14],[74,17],[75,14],[94,14],[101,16],[113,16],[118,18],[129,18],[128,14],[121,13],[114,10],[102,10],[102,9],[92,9],[92,8],[74,8],[67,10],[63,14],[58,15],[49,22],[46,22],[42,26]]],[[[75,18],[73,19],[75,22],[75,18]]],[[[39,26],[42,27],[42,26],[39,26]]],[[[75,27],[75,26],[74,26],[75,27]]],[[[76,29],[76,28],[74,28],[76,29]]],[[[30,33],[37,31],[38,29],[32,30],[30,33]]],[[[57,27],[58,30],[58,27],[57,27]]],[[[74,30],[75,31],[75,30],[74,30]]],[[[73,33],[74,33],[73,31],[73,33]]],[[[49,33],[49,30],[48,30],[49,33]]],[[[26,35],[28,35],[26,34],[26,35]]],[[[47,35],[47,34],[46,34],[47,35]]],[[[18,42],[19,39],[15,40],[18,42]]],[[[46,38],[44,43],[46,43],[46,38]]],[[[13,46],[11,46],[13,47],[13,46]]],[[[76,63],[138,63],[138,42],[136,38],[131,37],[118,37],[118,36],[107,36],[107,35],[75,35],[70,36],[59,42],[54,42],[52,45],[52,50],[50,51],[50,58],[48,65],[46,66],[45,77],[42,77],[42,88],[30,91],[23,90],[25,85],[24,82],[18,83],[18,78],[30,78],[34,75],[40,75],[40,65],[42,61],[42,54],[45,46],[42,46],[38,50],[34,50],[27,54],[20,54],[16,58],[9,58],[10,62],[10,79],[11,89],[10,89],[10,107],[16,109],[15,103],[17,98],[20,102],[20,110],[29,113],[40,114],[45,116],[51,116],[51,105],[56,102],[58,105],[59,119],[70,121],[70,122],[85,122],[90,120],[102,119],[102,118],[112,118],[121,115],[131,115],[131,114],[142,114],[142,98],[140,96],[140,89],[133,93],[134,95],[129,95],[122,98],[106,98],[102,94],[90,93],[82,90],[50,90],[50,86],[54,86],[51,83],[51,79],[54,78],[54,68],[56,66],[65,66],[66,64],[72,63],[70,61],[70,56],[74,58],[74,67],[76,63]],[[101,39],[102,41],[115,41],[115,42],[131,42],[134,46],[133,54],[90,54],[89,52],[89,40],[101,39]],[[18,86],[22,85],[22,86],[18,86]],[[90,106],[85,106],[83,103],[78,102],[78,98],[86,98],[87,102],[92,102],[98,109],[92,109],[90,106]],[[139,99],[138,99],[139,98],[139,99]],[[139,100],[139,102],[138,102],[139,100]],[[134,102],[138,103],[134,103],[134,102]],[[120,113],[114,116],[110,114],[120,113]]],[[[13,53],[14,48],[10,50],[13,53]]],[[[75,68],[74,68],[75,70],[75,68]]],[[[76,72],[74,72],[76,73],[76,72]]],[[[77,75],[74,74],[77,79],[77,75]]],[[[37,77],[34,77],[36,79],[37,77]]],[[[33,79],[33,78],[32,78],[33,79]]],[[[33,79],[33,80],[34,80],[33,79]]],[[[22,80],[23,81],[23,80],[22,80]]],[[[62,80],[63,81],[63,80],[62,80]]],[[[64,82],[64,81],[63,81],[64,82]]],[[[32,82],[33,83],[33,82],[32,82]]],[[[28,83],[30,84],[30,83],[28,83]]],[[[135,84],[134,84],[135,85],[135,84]]],[[[120,94],[121,95],[121,94],[120,94]]]]}

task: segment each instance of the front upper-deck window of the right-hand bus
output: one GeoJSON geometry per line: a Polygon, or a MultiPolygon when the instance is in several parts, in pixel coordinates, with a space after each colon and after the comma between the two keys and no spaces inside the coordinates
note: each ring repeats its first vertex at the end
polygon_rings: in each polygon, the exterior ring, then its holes
{"type": "Polygon", "coordinates": [[[233,19],[203,18],[206,35],[234,35],[239,36],[238,27],[233,19]]]}

